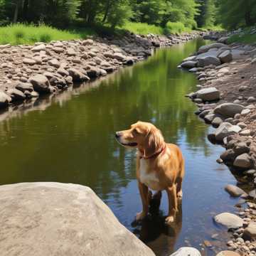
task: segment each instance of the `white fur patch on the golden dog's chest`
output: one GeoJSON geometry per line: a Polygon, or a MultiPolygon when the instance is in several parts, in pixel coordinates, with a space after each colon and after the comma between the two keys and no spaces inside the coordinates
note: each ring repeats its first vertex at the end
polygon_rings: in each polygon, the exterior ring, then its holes
{"type": "Polygon", "coordinates": [[[159,178],[156,176],[154,171],[148,172],[149,166],[147,160],[140,159],[139,160],[139,180],[144,183],[149,188],[159,191],[159,178]]]}

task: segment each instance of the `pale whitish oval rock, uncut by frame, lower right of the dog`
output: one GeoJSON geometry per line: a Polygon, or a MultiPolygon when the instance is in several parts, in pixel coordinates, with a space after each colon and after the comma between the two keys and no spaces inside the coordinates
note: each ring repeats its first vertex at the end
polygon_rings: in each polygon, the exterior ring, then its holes
{"type": "Polygon", "coordinates": [[[214,217],[216,223],[226,228],[241,228],[243,220],[233,213],[220,213],[214,217]]]}

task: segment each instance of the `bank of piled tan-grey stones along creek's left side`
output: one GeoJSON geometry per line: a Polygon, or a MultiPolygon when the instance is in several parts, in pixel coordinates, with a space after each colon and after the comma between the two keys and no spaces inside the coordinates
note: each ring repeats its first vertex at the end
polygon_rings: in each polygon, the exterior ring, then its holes
{"type": "Polygon", "coordinates": [[[55,94],[74,84],[88,82],[133,65],[161,46],[172,46],[203,36],[138,36],[92,38],[36,43],[34,46],[0,46],[0,108],[55,94]]]}

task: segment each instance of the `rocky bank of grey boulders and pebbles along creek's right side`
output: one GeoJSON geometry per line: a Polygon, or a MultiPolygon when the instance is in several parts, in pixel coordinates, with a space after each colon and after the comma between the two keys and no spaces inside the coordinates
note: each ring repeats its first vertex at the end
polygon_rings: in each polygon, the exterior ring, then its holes
{"type": "Polygon", "coordinates": [[[223,255],[252,256],[256,255],[256,44],[227,45],[228,36],[213,35],[218,42],[202,46],[179,68],[198,76],[198,91],[187,97],[198,106],[196,114],[216,128],[208,139],[225,148],[218,163],[228,165],[238,179],[237,186],[225,187],[230,196],[240,197],[236,214],[214,218],[231,233],[230,252],[223,255]]]}

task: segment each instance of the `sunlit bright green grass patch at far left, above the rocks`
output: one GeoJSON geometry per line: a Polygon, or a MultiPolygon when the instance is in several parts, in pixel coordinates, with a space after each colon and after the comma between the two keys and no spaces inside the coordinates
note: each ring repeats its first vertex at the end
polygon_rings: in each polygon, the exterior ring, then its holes
{"type": "Polygon", "coordinates": [[[0,27],[0,44],[31,45],[36,42],[48,43],[53,40],[83,39],[93,34],[94,31],[90,28],[60,30],[46,25],[34,26],[19,23],[0,27]]]}

